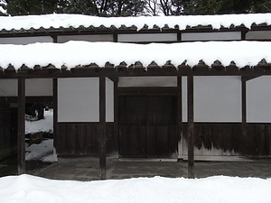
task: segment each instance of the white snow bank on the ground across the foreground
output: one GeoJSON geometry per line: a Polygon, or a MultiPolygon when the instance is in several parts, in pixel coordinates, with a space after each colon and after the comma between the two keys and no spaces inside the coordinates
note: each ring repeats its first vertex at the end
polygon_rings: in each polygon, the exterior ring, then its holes
{"type": "Polygon", "coordinates": [[[127,180],[47,180],[30,175],[0,178],[1,202],[20,203],[270,203],[271,179],[162,177],[127,180]]]}

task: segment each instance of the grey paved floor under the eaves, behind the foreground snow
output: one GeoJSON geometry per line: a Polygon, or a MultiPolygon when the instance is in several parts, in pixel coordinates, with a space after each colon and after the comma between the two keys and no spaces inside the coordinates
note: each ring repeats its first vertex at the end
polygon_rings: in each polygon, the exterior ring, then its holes
{"type": "MultiPolygon", "coordinates": [[[[15,165],[0,163],[0,177],[15,174],[15,165]],[[2,174],[1,174],[2,172],[2,174]]],[[[187,178],[187,161],[118,161],[107,159],[107,179],[163,176],[187,178]]],[[[99,180],[96,158],[65,159],[52,164],[27,162],[26,173],[53,180],[99,180]]],[[[209,176],[271,178],[271,160],[195,161],[195,178],[209,176]]]]}

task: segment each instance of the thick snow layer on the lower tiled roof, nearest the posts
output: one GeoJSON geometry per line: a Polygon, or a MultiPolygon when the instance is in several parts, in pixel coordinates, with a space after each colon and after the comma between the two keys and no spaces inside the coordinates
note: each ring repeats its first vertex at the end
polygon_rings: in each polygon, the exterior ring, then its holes
{"type": "Polygon", "coordinates": [[[104,67],[107,62],[118,66],[140,61],[147,67],[152,61],[163,66],[168,60],[177,67],[183,62],[194,66],[203,60],[211,66],[216,60],[223,66],[234,61],[239,68],[256,66],[261,60],[271,63],[271,42],[182,42],[173,44],[131,44],[117,42],[66,42],[34,43],[28,45],[0,45],[0,67],[12,64],[20,69],[24,64],[30,69],[35,65],[49,64],[61,69],[96,63],[104,67]]]}

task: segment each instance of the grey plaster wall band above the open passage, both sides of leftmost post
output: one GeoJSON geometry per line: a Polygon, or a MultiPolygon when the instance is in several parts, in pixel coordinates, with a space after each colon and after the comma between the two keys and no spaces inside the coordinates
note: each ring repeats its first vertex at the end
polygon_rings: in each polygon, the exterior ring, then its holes
{"type": "MultiPolygon", "coordinates": [[[[0,79],[0,97],[17,97],[17,84],[17,79],[0,79]]],[[[26,79],[25,96],[52,96],[52,79],[26,79]]]]}

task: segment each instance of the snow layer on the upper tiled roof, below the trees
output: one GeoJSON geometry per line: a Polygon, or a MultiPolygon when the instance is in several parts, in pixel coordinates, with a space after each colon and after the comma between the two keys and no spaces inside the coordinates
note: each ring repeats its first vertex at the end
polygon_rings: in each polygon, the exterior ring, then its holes
{"type": "Polygon", "coordinates": [[[183,16],[97,17],[82,14],[47,14],[0,17],[0,31],[35,31],[63,29],[123,29],[141,30],[177,28],[185,30],[195,26],[211,26],[212,29],[271,24],[271,14],[224,14],[183,16]]]}

